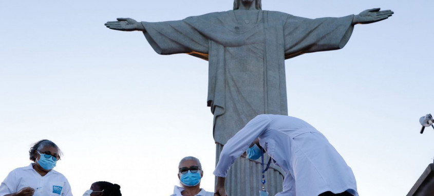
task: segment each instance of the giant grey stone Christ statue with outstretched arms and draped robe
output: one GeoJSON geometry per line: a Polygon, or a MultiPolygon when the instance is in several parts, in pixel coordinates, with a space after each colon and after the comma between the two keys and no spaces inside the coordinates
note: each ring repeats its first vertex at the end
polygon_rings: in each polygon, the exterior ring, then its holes
{"type": "MultiPolygon", "coordinates": [[[[309,19],[261,10],[260,0],[235,0],[231,11],[158,23],[118,18],[105,26],[142,31],[158,54],[185,53],[209,61],[207,105],[214,115],[218,159],[221,146],[257,115],[288,115],[285,59],[341,49],[354,25],[374,23],[392,14],[378,8],[358,15],[309,19]]],[[[248,160],[239,161],[227,179],[237,188],[227,186],[228,193],[256,195],[258,189],[252,187],[259,182],[259,169],[248,160]],[[252,178],[254,182],[249,182],[252,178]]]]}

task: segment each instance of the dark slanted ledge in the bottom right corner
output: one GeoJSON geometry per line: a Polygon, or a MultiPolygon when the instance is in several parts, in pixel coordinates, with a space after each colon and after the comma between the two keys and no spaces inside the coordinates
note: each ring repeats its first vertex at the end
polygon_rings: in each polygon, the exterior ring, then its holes
{"type": "Polygon", "coordinates": [[[410,189],[407,196],[432,196],[434,195],[434,163],[428,165],[416,184],[410,189]]]}

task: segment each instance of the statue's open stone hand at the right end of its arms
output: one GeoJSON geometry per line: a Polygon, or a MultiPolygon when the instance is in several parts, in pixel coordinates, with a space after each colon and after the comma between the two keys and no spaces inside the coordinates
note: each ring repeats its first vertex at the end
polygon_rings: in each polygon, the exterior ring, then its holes
{"type": "Polygon", "coordinates": [[[393,12],[391,10],[380,11],[380,8],[368,9],[360,14],[355,15],[352,24],[369,24],[375,23],[388,17],[392,16],[393,12]]]}

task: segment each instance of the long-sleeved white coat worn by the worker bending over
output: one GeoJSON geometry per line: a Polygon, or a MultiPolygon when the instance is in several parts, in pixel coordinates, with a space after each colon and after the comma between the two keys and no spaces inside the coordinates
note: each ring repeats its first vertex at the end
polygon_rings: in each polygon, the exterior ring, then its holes
{"type": "Polygon", "coordinates": [[[259,115],[247,123],[223,146],[214,175],[226,177],[256,138],[273,163],[285,171],[283,191],[276,196],[326,191],[358,195],[351,168],[324,135],[301,119],[282,115],[259,115]]]}

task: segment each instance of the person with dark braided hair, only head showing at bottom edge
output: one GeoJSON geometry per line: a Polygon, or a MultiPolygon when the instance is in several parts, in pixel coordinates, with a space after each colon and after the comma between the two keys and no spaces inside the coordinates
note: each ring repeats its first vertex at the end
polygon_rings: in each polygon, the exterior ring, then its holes
{"type": "Polygon", "coordinates": [[[121,186],[105,181],[98,181],[90,185],[90,189],[84,192],[83,196],[122,196],[121,186]]]}

